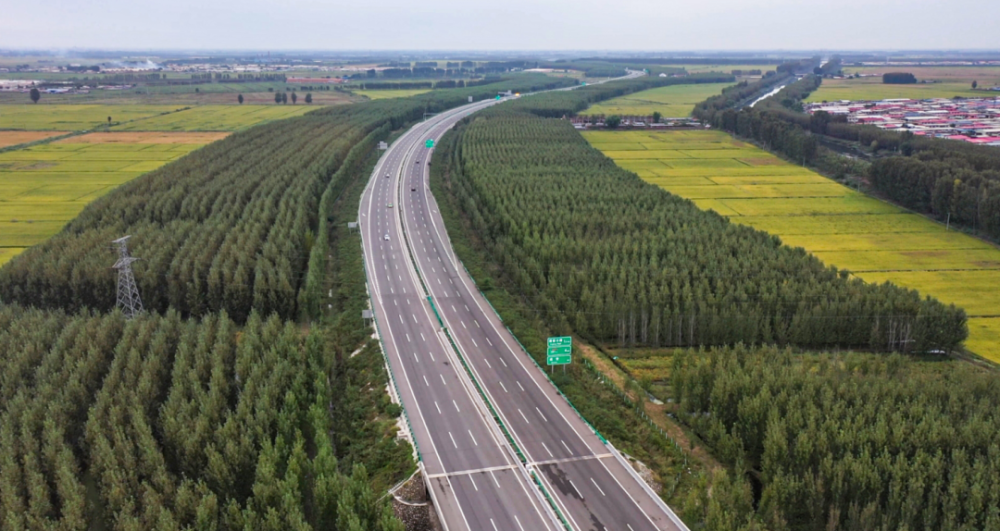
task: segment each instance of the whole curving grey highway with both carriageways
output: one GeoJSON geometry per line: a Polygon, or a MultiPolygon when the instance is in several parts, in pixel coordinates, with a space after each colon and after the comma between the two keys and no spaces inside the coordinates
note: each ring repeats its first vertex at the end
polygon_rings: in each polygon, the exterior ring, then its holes
{"type": "Polygon", "coordinates": [[[454,254],[428,188],[433,150],[424,142],[494,103],[443,113],[397,140],[359,218],[380,334],[439,514],[450,529],[562,528],[532,485],[535,474],[573,529],[686,531],[520,349],[454,254]],[[523,466],[458,355],[523,452],[523,466]],[[502,481],[491,484],[492,476],[502,481]]]}

